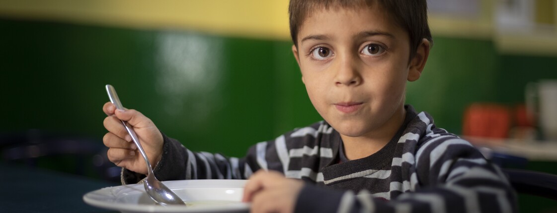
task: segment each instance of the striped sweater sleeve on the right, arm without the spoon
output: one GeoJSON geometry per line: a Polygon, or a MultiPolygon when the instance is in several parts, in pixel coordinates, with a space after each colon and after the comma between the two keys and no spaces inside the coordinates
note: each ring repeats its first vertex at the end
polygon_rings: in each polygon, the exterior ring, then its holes
{"type": "Polygon", "coordinates": [[[467,141],[432,143],[417,156],[419,184],[413,191],[389,201],[366,191],[305,186],[296,212],[517,212],[516,195],[504,173],[467,141]]]}

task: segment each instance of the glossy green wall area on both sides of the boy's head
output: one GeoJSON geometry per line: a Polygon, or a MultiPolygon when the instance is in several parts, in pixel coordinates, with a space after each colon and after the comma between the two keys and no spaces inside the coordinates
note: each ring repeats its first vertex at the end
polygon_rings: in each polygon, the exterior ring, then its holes
{"type": "MultiPolygon", "coordinates": [[[[246,148],[320,119],[288,41],[0,19],[0,133],[105,134],[105,84],[125,107],[192,150],[246,148]]],[[[407,103],[461,133],[472,102],[512,106],[527,82],[557,78],[557,57],[505,55],[493,42],[435,37],[407,103]]]]}

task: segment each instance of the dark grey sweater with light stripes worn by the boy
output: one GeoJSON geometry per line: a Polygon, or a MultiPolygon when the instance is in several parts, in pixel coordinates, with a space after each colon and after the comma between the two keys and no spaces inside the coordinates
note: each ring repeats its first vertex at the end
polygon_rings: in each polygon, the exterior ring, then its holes
{"type": "MultiPolygon", "coordinates": [[[[405,106],[393,139],[366,158],[346,160],[324,121],[252,146],[244,158],[194,153],[164,135],[159,180],[247,179],[259,169],[305,180],[296,212],[516,212],[505,175],[470,143],[405,106]]],[[[143,176],[144,177],[144,176],[143,176]]],[[[124,170],[123,183],[143,178],[124,170]]]]}

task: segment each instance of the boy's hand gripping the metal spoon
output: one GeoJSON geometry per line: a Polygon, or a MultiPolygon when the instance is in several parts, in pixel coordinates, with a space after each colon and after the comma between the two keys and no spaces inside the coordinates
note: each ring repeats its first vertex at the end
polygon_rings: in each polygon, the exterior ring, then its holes
{"type": "Polygon", "coordinates": [[[109,133],[106,133],[102,138],[104,144],[109,148],[108,159],[117,166],[136,173],[147,174],[145,160],[143,160],[143,156],[137,150],[135,143],[131,140],[131,136],[120,120],[124,120],[133,126],[152,166],[157,165],[163,153],[163,135],[160,134],[157,126],[139,111],[133,109],[116,110],[114,104],[110,102],[104,104],[102,111],[108,115],[104,119],[104,126],[109,133]]]}

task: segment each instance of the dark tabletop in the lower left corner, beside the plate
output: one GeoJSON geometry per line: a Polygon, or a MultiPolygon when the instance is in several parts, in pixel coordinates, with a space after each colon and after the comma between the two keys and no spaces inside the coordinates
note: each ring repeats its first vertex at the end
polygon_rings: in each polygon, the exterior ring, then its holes
{"type": "Polygon", "coordinates": [[[114,212],[82,199],[114,182],[3,162],[0,171],[0,212],[114,212]]]}

